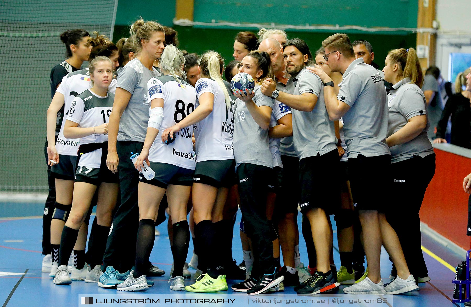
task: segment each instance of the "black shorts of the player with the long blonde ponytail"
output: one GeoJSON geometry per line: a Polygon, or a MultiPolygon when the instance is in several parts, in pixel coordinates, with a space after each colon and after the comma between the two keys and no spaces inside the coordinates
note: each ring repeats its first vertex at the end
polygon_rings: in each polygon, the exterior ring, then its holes
{"type": "Polygon", "coordinates": [[[230,188],[235,185],[234,169],[234,159],[196,162],[193,182],[216,188],[230,188]]]}

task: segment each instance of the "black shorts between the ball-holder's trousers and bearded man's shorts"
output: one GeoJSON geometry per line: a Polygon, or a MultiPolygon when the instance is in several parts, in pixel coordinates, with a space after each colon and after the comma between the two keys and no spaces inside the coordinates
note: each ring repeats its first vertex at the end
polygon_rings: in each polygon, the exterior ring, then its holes
{"type": "Polygon", "coordinates": [[[299,158],[281,155],[281,162],[283,162],[282,189],[276,193],[275,212],[280,215],[297,213],[301,195],[299,158]]]}

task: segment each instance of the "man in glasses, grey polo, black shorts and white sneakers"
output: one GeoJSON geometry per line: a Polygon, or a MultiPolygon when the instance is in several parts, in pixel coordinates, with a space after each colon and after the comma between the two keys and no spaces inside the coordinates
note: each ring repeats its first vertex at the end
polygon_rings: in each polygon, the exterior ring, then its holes
{"type": "MultiPolygon", "coordinates": [[[[343,74],[338,95],[333,87],[325,87],[325,107],[331,120],[343,119],[350,186],[363,228],[369,271],[364,280],[343,289],[343,292],[382,295],[417,291],[419,288],[407,268],[398,236],[384,214],[385,210],[390,209],[384,191],[390,186],[391,154],[386,143],[388,102],[383,79],[363,58],[355,59],[353,46],[346,34],[329,36],[322,42],[322,47],[325,48],[326,61],[331,70],[343,74]],[[400,277],[398,282],[386,287],[380,271],[382,244],[400,277]]],[[[320,67],[309,70],[324,83],[332,81],[320,67]]]]}

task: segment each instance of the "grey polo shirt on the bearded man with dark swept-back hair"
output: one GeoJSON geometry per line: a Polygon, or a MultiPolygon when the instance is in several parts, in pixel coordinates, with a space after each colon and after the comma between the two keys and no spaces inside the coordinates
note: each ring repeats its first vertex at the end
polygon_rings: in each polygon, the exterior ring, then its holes
{"type": "Polygon", "coordinates": [[[302,159],[337,149],[333,121],[329,119],[325,109],[321,79],[303,68],[297,75],[291,76],[286,88],[289,94],[311,93],[317,96],[317,103],[312,111],[292,109],[293,141],[297,156],[302,159]]]}

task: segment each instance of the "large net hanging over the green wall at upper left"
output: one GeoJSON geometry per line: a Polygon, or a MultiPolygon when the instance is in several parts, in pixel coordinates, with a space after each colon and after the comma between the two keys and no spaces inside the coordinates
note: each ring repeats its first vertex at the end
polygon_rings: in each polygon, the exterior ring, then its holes
{"type": "Polygon", "coordinates": [[[0,1],[0,190],[46,191],[46,110],[59,35],[99,31],[112,39],[118,0],[0,1]]]}

